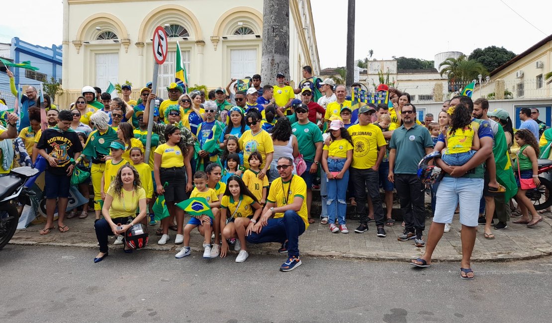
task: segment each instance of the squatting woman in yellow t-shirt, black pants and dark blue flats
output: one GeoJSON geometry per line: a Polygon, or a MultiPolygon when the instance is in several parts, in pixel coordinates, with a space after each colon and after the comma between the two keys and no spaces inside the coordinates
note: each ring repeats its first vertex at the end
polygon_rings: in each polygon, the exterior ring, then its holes
{"type": "MultiPolygon", "coordinates": [[[[140,176],[136,169],[127,163],[119,169],[116,179],[105,195],[102,208],[104,218],[94,224],[100,246],[100,252],[94,258],[94,262],[100,262],[108,256],[107,237],[124,235],[132,225],[142,222],[146,217],[146,210],[146,191],[140,184],[140,176]],[[137,208],[140,209],[140,213],[136,216],[137,208]]],[[[132,252],[126,244],[124,250],[129,254],[132,252]]]]}

